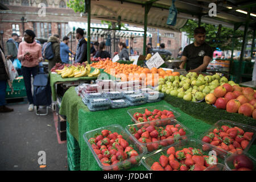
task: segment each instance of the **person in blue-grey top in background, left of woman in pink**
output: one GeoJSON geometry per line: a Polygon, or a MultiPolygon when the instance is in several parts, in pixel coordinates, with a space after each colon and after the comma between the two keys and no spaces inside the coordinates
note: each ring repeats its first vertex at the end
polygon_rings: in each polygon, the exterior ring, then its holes
{"type": "Polygon", "coordinates": [[[11,34],[11,38],[7,40],[6,45],[7,45],[7,57],[6,59],[10,59],[12,62],[17,58],[18,54],[18,34],[13,33],[11,34]]]}

